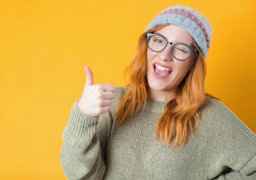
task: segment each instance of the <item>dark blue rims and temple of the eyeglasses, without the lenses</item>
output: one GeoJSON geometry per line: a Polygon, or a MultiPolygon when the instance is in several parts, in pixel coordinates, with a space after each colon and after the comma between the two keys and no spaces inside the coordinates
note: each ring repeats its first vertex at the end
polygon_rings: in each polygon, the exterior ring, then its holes
{"type": "MultiPolygon", "coordinates": [[[[156,35],[156,34],[154,34],[154,33],[147,33],[147,37],[148,37],[148,38],[149,38],[150,36],[152,36],[152,35],[159,36],[160,38],[163,38],[162,36],[156,35]]],[[[148,45],[148,38],[147,38],[147,45],[148,45]]],[[[172,46],[171,46],[171,54],[172,54],[172,47],[173,47],[173,45],[175,45],[175,44],[183,44],[183,43],[172,43],[172,42],[170,42],[170,41],[167,41],[165,38],[163,38],[163,39],[164,39],[165,42],[166,42],[163,49],[166,48],[167,44],[171,44],[171,45],[172,45],[172,46]]],[[[193,48],[193,47],[191,47],[191,46],[189,46],[189,45],[186,45],[186,44],[183,44],[183,45],[187,46],[187,47],[190,49],[190,55],[189,55],[189,57],[191,56],[192,52],[198,52],[197,49],[195,49],[195,48],[193,48]]],[[[149,46],[148,46],[148,48],[149,48],[151,51],[154,51],[154,50],[151,49],[149,46]]],[[[163,49],[160,50],[160,51],[154,51],[154,52],[161,52],[161,51],[163,51],[163,49]]],[[[172,54],[172,57],[174,57],[173,54],[172,54]]],[[[189,58],[189,57],[188,57],[188,58],[189,58]]],[[[174,57],[174,58],[175,58],[175,57],[174,57]]],[[[186,58],[186,59],[188,59],[188,58],[186,58]]],[[[197,55],[196,55],[196,60],[197,60],[197,58],[198,58],[198,53],[197,53],[197,55]]],[[[177,59],[177,58],[175,58],[175,59],[177,59]]],[[[177,59],[177,60],[179,60],[179,61],[185,61],[186,59],[177,59]]]]}

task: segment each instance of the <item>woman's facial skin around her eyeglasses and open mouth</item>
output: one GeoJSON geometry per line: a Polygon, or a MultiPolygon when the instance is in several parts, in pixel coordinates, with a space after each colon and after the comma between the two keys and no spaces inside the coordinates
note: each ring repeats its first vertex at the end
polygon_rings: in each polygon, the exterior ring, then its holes
{"type": "MultiPolygon", "coordinates": [[[[162,34],[166,41],[170,41],[172,43],[184,43],[195,48],[191,35],[183,28],[176,25],[165,26],[160,30],[154,32],[162,34]]],[[[163,42],[164,43],[164,42],[163,42]]],[[[150,90],[156,91],[176,91],[180,82],[186,76],[190,68],[192,67],[193,62],[196,58],[197,52],[192,52],[190,57],[185,61],[179,61],[175,59],[171,54],[171,44],[167,44],[166,48],[161,52],[154,52],[148,48],[147,50],[147,78],[148,78],[148,88],[150,90]],[[157,67],[155,64],[158,64],[163,67],[169,67],[172,71],[169,75],[165,72],[160,72],[160,70],[156,70],[157,67]],[[156,74],[156,71],[160,73],[160,75],[156,74]],[[162,76],[161,76],[162,74],[162,76]]],[[[158,66],[157,65],[157,66],[158,66]]]]}

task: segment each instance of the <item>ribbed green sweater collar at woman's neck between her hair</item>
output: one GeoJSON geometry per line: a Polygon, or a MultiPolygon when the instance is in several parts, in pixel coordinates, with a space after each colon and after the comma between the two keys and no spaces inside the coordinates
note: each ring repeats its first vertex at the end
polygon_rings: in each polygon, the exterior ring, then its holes
{"type": "Polygon", "coordinates": [[[168,101],[157,101],[147,97],[147,104],[145,110],[155,112],[155,113],[163,113],[165,105],[168,101]]]}

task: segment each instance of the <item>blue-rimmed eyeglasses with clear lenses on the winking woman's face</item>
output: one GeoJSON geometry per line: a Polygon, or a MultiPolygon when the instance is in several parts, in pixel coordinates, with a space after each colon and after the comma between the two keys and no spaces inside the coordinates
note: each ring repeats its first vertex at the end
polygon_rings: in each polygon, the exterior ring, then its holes
{"type": "Polygon", "coordinates": [[[185,61],[187,58],[190,57],[192,52],[198,52],[197,49],[190,47],[183,43],[171,43],[169,41],[166,41],[165,38],[163,38],[160,35],[155,35],[153,33],[147,33],[147,45],[148,48],[151,51],[154,52],[160,52],[163,51],[164,48],[166,48],[167,44],[171,44],[171,54],[172,56],[179,60],[179,61],[185,61]]]}

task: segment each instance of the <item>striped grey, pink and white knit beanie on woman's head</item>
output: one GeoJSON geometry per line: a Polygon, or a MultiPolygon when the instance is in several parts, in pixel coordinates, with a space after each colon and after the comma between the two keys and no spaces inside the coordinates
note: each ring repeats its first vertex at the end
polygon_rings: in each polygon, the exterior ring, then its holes
{"type": "Polygon", "coordinates": [[[194,38],[206,60],[212,38],[212,26],[204,15],[186,6],[171,6],[157,15],[145,31],[163,24],[175,24],[194,38]]]}

